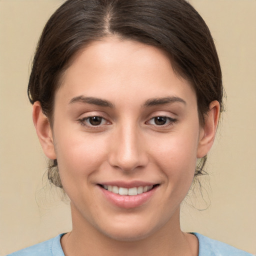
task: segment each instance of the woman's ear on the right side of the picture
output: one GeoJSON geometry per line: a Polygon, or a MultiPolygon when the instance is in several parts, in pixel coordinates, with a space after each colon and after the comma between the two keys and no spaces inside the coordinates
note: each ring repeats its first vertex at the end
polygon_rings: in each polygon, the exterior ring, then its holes
{"type": "Polygon", "coordinates": [[[197,158],[202,158],[210,150],[217,130],[219,116],[219,102],[210,102],[209,111],[204,116],[204,125],[200,129],[197,158]]]}

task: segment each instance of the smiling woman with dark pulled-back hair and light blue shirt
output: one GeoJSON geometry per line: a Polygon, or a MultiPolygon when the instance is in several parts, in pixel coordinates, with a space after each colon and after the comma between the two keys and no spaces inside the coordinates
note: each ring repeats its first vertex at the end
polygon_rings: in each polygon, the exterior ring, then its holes
{"type": "Polygon", "coordinates": [[[180,229],[222,110],[213,40],[185,0],[67,0],[28,95],[73,227],[11,255],[249,255],[180,229]]]}

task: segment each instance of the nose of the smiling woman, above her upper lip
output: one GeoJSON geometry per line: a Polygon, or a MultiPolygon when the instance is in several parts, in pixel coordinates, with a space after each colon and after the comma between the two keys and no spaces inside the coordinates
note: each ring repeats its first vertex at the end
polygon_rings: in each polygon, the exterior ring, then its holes
{"type": "Polygon", "coordinates": [[[132,171],[147,165],[145,141],[136,125],[123,125],[113,132],[108,162],[123,171],[132,171]],[[123,127],[124,126],[124,127],[123,127]]]}

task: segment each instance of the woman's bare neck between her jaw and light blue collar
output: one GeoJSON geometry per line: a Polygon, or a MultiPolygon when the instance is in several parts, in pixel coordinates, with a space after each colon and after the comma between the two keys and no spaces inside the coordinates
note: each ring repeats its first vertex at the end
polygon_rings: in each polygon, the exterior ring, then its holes
{"type": "Polygon", "coordinates": [[[106,235],[77,213],[71,206],[72,231],[61,238],[66,256],[140,256],[140,255],[198,255],[197,238],[183,233],[179,223],[179,209],[171,219],[152,234],[136,239],[119,240],[106,235]],[[195,244],[196,243],[196,244],[195,244]]]}

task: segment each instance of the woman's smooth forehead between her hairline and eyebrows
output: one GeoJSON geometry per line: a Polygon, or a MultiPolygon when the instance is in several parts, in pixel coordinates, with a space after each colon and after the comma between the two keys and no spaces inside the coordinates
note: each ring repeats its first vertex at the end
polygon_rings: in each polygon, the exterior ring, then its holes
{"type": "Polygon", "coordinates": [[[79,95],[104,98],[107,93],[110,101],[130,96],[132,102],[134,96],[146,100],[194,94],[189,82],[173,71],[163,50],[116,37],[94,41],[80,50],[64,72],[59,92],[67,100],[79,95]]]}

